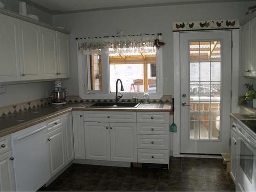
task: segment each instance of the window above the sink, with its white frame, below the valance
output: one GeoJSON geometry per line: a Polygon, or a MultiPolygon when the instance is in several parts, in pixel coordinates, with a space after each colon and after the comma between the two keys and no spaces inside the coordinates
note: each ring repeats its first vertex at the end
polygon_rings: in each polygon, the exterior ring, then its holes
{"type": "MultiPolygon", "coordinates": [[[[78,54],[79,96],[82,99],[114,99],[116,80],[123,82],[123,99],[151,99],[163,95],[162,48],[102,48],[78,54]]],[[[153,45],[153,46],[152,46],[153,45]]],[[[119,90],[120,92],[120,90],[119,90]]]]}

